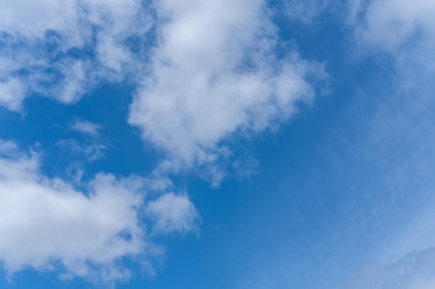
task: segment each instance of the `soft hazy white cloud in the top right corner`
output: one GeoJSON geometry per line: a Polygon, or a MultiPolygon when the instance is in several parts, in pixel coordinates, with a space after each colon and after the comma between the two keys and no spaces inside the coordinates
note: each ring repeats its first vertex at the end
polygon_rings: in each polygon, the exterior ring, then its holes
{"type": "Polygon", "coordinates": [[[393,55],[407,78],[435,72],[435,2],[426,0],[352,1],[351,21],[365,49],[393,55]]]}

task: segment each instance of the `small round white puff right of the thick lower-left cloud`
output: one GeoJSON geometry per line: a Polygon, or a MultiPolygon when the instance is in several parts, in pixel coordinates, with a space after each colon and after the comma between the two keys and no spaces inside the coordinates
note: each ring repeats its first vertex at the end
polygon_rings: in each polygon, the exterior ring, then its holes
{"type": "Polygon", "coordinates": [[[166,193],[150,201],[145,209],[154,220],[153,231],[157,234],[186,233],[196,229],[198,213],[186,195],[166,193]]]}

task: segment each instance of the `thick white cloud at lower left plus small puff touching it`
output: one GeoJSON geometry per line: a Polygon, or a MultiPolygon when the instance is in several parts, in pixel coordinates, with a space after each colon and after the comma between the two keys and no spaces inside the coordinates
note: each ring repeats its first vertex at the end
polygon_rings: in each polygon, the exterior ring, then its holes
{"type": "MultiPolygon", "coordinates": [[[[134,256],[149,266],[149,257],[161,253],[141,225],[149,181],[101,173],[81,192],[62,179],[44,177],[39,165],[38,155],[0,142],[0,262],[6,271],[30,266],[110,282],[129,277],[124,258],[134,256]]],[[[186,208],[193,208],[190,200],[170,196],[174,202],[154,211],[163,216],[167,232],[190,229],[186,224],[196,221],[186,215],[186,208]]]]}

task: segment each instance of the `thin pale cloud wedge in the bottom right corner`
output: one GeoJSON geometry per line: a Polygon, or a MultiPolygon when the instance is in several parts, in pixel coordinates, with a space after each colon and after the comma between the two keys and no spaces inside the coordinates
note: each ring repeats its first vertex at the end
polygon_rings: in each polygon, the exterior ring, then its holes
{"type": "Polygon", "coordinates": [[[388,234],[373,254],[376,262],[363,267],[345,288],[435,288],[434,203],[419,209],[407,212],[414,216],[388,234]]]}

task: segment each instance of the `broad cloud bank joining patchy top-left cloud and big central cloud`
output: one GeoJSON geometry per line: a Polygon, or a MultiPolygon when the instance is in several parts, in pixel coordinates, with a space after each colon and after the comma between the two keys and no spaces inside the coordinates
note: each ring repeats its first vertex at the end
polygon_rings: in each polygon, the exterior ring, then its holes
{"type": "Polygon", "coordinates": [[[324,74],[280,42],[270,15],[263,0],[5,1],[0,105],[21,110],[31,94],[72,103],[129,74],[129,122],[169,153],[165,166],[210,163],[233,132],[289,119],[314,96],[307,79],[324,74]]]}

